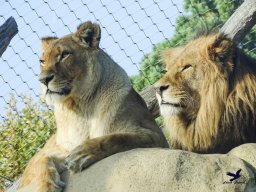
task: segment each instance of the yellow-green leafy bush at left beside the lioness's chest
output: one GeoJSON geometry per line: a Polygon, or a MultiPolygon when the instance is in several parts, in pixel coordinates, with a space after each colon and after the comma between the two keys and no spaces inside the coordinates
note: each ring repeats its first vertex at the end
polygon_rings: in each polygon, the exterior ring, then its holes
{"type": "MultiPolygon", "coordinates": [[[[52,112],[43,101],[34,104],[31,97],[21,95],[23,107],[11,95],[6,118],[0,122],[0,175],[15,180],[29,159],[42,147],[55,130],[52,112]],[[21,108],[21,109],[19,109],[21,108]]],[[[0,177],[0,186],[7,186],[0,177]]]]}

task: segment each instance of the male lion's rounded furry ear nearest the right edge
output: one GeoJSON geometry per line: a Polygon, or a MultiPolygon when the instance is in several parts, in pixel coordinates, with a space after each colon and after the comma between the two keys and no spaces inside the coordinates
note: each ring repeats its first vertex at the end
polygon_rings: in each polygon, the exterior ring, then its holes
{"type": "Polygon", "coordinates": [[[233,42],[223,34],[217,34],[210,38],[207,44],[207,54],[211,60],[223,65],[232,57],[233,42]]]}

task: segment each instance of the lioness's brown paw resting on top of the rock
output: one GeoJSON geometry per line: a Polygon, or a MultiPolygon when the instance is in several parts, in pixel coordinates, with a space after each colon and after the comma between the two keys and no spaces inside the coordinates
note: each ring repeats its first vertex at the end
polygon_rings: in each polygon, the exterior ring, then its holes
{"type": "Polygon", "coordinates": [[[65,159],[65,166],[67,169],[76,173],[82,171],[86,167],[100,160],[95,155],[87,152],[86,150],[76,148],[71,154],[65,159]]]}

